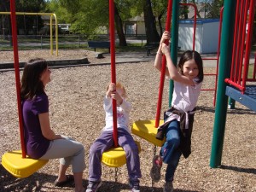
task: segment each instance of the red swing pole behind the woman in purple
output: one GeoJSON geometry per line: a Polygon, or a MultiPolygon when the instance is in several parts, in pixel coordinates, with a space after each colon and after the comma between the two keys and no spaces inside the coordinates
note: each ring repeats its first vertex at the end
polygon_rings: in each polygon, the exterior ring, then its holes
{"type": "Polygon", "coordinates": [[[21,143],[22,158],[26,158],[26,148],[25,148],[25,142],[24,142],[24,130],[23,130],[22,110],[21,110],[21,99],[20,99],[20,69],[19,69],[15,0],[10,0],[10,11],[11,11],[10,16],[11,16],[11,23],[12,23],[14,58],[15,58],[15,80],[16,80],[16,93],[17,93],[19,125],[20,125],[20,143],[21,143]]]}

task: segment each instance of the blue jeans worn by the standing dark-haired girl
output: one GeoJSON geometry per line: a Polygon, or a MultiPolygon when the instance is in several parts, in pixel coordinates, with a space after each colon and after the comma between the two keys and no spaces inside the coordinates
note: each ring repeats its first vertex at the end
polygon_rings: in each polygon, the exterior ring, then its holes
{"type": "Polygon", "coordinates": [[[166,182],[173,180],[174,172],[182,154],[178,148],[180,144],[180,134],[179,122],[172,120],[166,129],[166,142],[160,149],[160,156],[163,158],[163,162],[167,164],[166,182]]]}

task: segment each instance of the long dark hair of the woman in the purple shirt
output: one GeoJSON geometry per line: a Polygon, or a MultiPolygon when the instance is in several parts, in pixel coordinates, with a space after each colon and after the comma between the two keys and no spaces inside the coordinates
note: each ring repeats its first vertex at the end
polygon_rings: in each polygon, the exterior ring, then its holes
{"type": "Polygon", "coordinates": [[[41,58],[26,62],[21,79],[21,99],[32,99],[36,94],[44,93],[44,84],[40,77],[47,66],[47,62],[41,58]]]}

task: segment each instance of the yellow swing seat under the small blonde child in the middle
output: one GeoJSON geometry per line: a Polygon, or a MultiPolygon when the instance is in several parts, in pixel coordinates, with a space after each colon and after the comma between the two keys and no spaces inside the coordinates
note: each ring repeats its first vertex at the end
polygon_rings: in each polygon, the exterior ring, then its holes
{"type": "MultiPolygon", "coordinates": [[[[137,141],[135,141],[135,143],[137,143],[137,148],[139,152],[141,152],[140,143],[137,141]]],[[[126,156],[124,149],[121,147],[109,148],[108,151],[105,151],[102,154],[102,163],[110,167],[119,167],[125,165],[126,156]]]]}

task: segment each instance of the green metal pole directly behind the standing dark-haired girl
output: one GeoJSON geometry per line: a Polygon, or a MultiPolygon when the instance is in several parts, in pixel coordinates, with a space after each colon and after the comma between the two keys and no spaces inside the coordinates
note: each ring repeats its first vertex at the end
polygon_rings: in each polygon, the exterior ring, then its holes
{"type": "MultiPolygon", "coordinates": [[[[172,44],[171,57],[174,65],[177,65],[177,44],[178,44],[178,16],[179,16],[179,0],[173,0],[172,3],[172,44]]],[[[170,80],[169,85],[169,107],[172,105],[173,81],[170,80]]]]}

